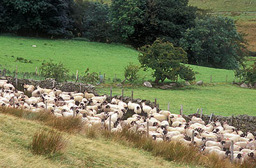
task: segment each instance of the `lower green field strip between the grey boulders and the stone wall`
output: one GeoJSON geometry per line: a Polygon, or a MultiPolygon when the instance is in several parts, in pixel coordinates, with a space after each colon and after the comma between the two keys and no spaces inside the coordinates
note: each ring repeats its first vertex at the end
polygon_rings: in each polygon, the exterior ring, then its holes
{"type": "MultiPolygon", "coordinates": [[[[170,111],[179,113],[180,105],[184,107],[185,114],[195,113],[197,108],[203,108],[204,114],[211,115],[255,115],[254,89],[244,89],[234,85],[219,83],[207,84],[204,87],[190,86],[177,90],[161,90],[158,88],[127,88],[124,87],[124,95],[131,97],[134,91],[134,99],[146,99],[154,102],[157,98],[159,108],[167,109],[170,102],[170,111]],[[211,86],[212,85],[212,86],[211,86]]],[[[109,87],[97,87],[100,94],[110,93],[109,87]]],[[[113,87],[113,95],[121,95],[122,88],[113,87]]]]}

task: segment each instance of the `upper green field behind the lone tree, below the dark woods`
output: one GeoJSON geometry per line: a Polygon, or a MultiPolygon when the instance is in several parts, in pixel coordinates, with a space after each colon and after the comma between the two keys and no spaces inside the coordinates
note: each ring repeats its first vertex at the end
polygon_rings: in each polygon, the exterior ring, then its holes
{"type": "MultiPolygon", "coordinates": [[[[36,39],[15,36],[0,36],[0,69],[4,67],[15,71],[35,71],[36,67],[40,67],[42,62],[49,59],[54,62],[63,62],[71,74],[75,74],[78,70],[80,75],[87,67],[90,71],[106,73],[106,79],[113,79],[115,74],[117,78],[124,80],[124,67],[129,62],[138,62],[138,52],[122,45],[109,45],[104,43],[93,43],[74,40],[51,40],[36,39]],[[21,45],[22,44],[22,45],[21,45]],[[31,47],[36,45],[36,48],[31,47]],[[16,61],[17,57],[31,60],[32,63],[24,63],[16,61]]],[[[214,69],[209,67],[191,66],[199,74],[196,80],[213,82],[231,82],[234,80],[233,71],[226,69],[214,69]]],[[[145,80],[153,80],[150,76],[151,71],[140,71],[140,78],[145,80]]]]}

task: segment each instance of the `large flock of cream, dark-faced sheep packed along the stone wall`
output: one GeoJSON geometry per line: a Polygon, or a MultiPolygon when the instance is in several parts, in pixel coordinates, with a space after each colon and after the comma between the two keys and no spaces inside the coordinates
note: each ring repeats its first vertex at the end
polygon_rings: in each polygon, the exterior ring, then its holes
{"type": "Polygon", "coordinates": [[[190,122],[170,111],[157,111],[144,102],[125,103],[107,95],[95,96],[87,92],[61,92],[55,88],[40,88],[24,84],[24,92],[15,90],[7,80],[0,80],[0,106],[49,111],[57,117],[81,117],[84,124],[95,129],[122,131],[124,127],[134,132],[148,134],[155,141],[175,141],[185,145],[194,144],[204,154],[215,153],[220,159],[230,158],[230,146],[234,142],[234,162],[241,163],[256,158],[256,141],[250,132],[242,132],[226,122],[214,121],[207,125],[201,118],[193,116],[190,122]],[[134,111],[132,117],[123,120],[127,109],[134,111]],[[141,116],[147,114],[147,117],[141,116]],[[194,133],[194,136],[193,136],[194,133]]]}

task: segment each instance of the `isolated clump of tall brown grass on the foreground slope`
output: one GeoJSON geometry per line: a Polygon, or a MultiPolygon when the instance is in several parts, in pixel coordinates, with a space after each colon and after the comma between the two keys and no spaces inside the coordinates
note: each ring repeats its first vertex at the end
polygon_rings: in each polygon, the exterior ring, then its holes
{"type": "Polygon", "coordinates": [[[34,134],[31,151],[36,155],[63,153],[68,143],[68,137],[56,130],[39,130],[34,134]]]}

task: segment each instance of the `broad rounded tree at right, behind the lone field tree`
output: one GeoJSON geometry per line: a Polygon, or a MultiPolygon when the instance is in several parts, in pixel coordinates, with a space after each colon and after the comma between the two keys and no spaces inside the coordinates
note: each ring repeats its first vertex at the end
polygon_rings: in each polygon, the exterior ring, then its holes
{"type": "Polygon", "coordinates": [[[188,53],[189,64],[235,69],[246,56],[244,34],[239,34],[228,17],[196,19],[187,29],[180,46],[188,53]]]}

